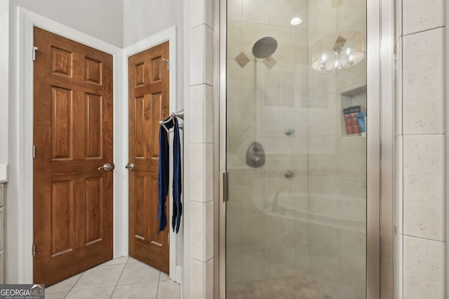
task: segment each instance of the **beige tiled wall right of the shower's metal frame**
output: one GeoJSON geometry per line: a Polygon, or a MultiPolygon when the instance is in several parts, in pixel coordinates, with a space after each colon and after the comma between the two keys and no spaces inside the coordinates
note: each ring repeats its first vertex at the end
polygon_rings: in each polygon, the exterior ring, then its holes
{"type": "Polygon", "coordinates": [[[396,0],[399,299],[445,297],[445,1],[396,0]]]}

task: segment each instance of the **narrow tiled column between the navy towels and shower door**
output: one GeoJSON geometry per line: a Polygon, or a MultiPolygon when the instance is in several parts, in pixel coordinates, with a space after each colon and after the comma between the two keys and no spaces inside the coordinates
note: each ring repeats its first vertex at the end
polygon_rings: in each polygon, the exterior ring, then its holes
{"type": "Polygon", "coordinates": [[[213,0],[190,0],[189,293],[213,298],[213,0]]]}

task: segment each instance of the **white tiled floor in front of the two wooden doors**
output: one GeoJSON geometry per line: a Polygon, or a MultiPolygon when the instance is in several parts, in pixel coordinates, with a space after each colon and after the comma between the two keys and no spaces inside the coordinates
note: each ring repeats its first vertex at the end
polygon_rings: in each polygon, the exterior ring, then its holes
{"type": "Polygon", "coordinates": [[[122,256],[45,290],[46,299],[180,299],[180,285],[167,274],[122,256]]]}

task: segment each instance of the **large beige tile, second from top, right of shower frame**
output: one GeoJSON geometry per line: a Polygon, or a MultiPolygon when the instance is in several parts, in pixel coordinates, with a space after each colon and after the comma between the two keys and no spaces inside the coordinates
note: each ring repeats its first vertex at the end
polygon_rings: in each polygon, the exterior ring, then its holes
{"type": "Polygon", "coordinates": [[[444,29],[403,38],[403,134],[444,133],[444,29]]]}

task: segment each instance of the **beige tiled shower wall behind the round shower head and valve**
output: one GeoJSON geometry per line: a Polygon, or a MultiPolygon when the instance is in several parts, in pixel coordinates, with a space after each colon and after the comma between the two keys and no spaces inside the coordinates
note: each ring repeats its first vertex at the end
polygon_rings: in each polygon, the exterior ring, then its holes
{"type": "Polygon", "coordinates": [[[307,211],[307,0],[234,0],[228,7],[227,288],[232,289],[307,270],[307,221],[287,215],[307,211]],[[290,25],[292,11],[303,13],[301,25],[290,25]],[[266,36],[276,39],[277,49],[256,59],[253,45],[266,36]],[[288,129],[293,134],[286,134],[288,129]],[[246,163],[255,141],[266,157],[257,168],[246,163]],[[288,171],[293,177],[284,176],[288,171]]]}

